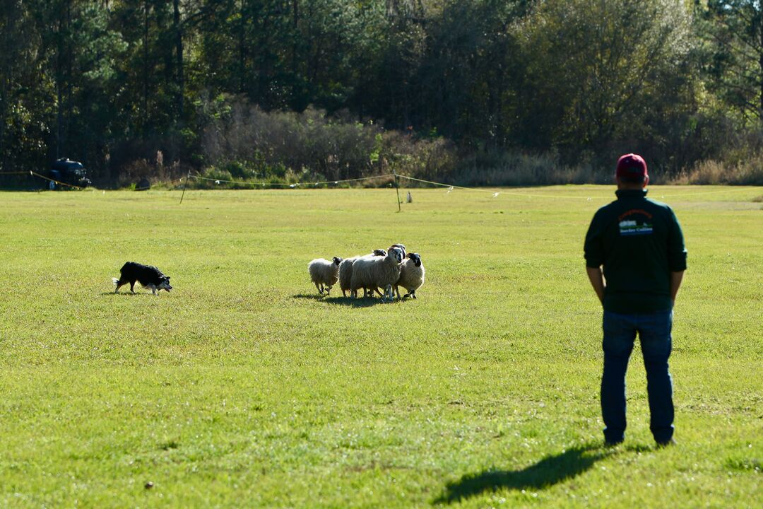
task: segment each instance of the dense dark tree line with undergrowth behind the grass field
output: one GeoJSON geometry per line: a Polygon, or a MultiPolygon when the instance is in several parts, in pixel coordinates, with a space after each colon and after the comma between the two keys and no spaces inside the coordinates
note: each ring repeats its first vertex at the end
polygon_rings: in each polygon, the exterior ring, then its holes
{"type": "Polygon", "coordinates": [[[0,172],[760,182],[761,120],[750,0],[0,0],[0,172]]]}

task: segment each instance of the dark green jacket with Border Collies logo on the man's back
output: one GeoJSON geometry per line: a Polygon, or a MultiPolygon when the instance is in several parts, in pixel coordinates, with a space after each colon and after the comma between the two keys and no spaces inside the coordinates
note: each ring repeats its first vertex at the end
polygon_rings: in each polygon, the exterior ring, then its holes
{"type": "Polygon", "coordinates": [[[686,269],[686,247],[673,209],[646,198],[645,189],[622,189],[600,208],[585,236],[585,264],[604,266],[604,310],[669,311],[670,273],[686,269]]]}

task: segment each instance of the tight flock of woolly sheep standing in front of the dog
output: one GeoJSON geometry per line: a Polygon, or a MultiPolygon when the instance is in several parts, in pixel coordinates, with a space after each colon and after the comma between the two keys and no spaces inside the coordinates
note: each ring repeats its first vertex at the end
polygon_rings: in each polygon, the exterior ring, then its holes
{"type": "Polygon", "coordinates": [[[363,289],[363,297],[373,297],[378,293],[381,300],[400,298],[399,287],[407,290],[403,298],[416,298],[416,290],[424,284],[424,266],[419,253],[406,253],[403,244],[392,244],[388,250],[373,250],[367,255],[341,259],[334,256],[327,260],[317,258],[307,264],[310,278],[320,295],[329,295],[331,287],[338,281],[342,295],[358,298],[358,290],[363,289]],[[379,291],[384,288],[384,294],[379,291]]]}

